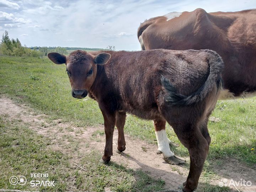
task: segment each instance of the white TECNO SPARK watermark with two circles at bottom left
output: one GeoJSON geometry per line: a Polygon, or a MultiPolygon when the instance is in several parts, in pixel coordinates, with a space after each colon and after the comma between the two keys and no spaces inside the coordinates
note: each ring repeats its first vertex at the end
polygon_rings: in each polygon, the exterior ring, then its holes
{"type": "MultiPolygon", "coordinates": [[[[32,180],[30,181],[30,186],[31,187],[54,187],[55,186],[55,181],[48,180],[49,175],[48,174],[30,174],[32,180]],[[39,180],[41,178],[41,180],[39,180]]],[[[11,176],[9,179],[9,182],[11,185],[25,185],[27,182],[26,177],[24,176],[11,176]]]]}

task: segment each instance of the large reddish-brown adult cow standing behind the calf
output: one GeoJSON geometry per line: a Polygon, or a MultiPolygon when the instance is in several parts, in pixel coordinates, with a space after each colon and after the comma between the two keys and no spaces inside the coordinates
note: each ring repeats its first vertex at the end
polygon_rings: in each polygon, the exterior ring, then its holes
{"type": "MultiPolygon", "coordinates": [[[[142,50],[212,49],[222,57],[225,66],[219,99],[256,96],[256,9],[172,12],[141,23],[138,39],[142,50]]],[[[154,123],[156,135],[158,124],[154,123]]],[[[166,136],[161,140],[169,139],[166,136]]],[[[172,144],[170,140],[169,143],[172,144]]],[[[167,149],[159,146],[158,153],[162,150],[167,149]]]]}

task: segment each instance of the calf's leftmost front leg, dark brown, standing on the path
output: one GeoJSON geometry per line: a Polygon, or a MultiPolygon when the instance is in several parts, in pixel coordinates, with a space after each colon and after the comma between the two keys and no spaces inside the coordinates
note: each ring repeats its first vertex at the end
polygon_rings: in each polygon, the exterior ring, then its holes
{"type": "Polygon", "coordinates": [[[113,155],[113,132],[114,126],[116,122],[115,114],[106,114],[102,112],[104,118],[104,128],[106,135],[106,145],[104,150],[104,155],[100,162],[107,163],[111,159],[111,155],[113,155]]]}

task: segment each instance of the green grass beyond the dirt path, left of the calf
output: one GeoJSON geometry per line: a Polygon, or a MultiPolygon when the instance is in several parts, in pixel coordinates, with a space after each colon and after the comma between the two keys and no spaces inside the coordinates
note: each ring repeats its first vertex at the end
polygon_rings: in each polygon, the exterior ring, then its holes
{"type": "Polygon", "coordinates": [[[103,123],[95,101],[71,97],[65,65],[53,64],[47,58],[1,57],[0,88],[0,94],[30,103],[53,119],[80,126],[103,123]]]}

